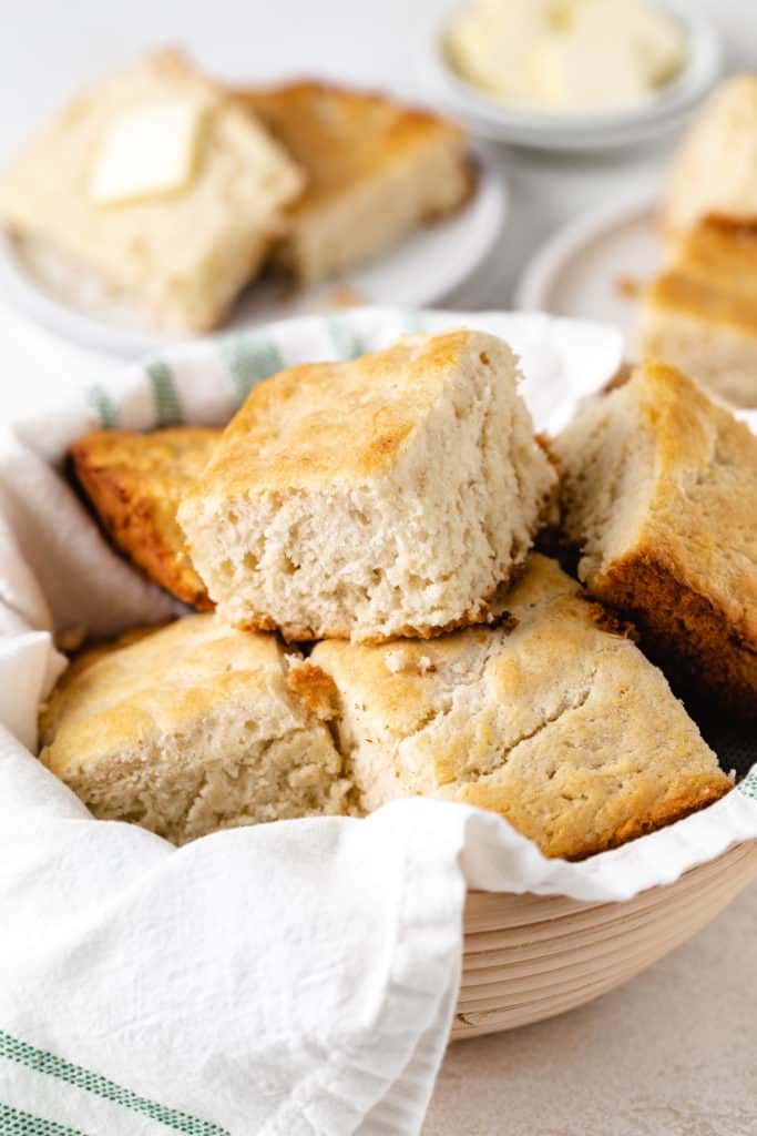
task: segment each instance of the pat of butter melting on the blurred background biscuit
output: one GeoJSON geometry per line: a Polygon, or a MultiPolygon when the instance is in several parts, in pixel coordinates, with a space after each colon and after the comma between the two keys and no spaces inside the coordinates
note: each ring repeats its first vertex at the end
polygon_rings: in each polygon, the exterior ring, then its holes
{"type": "Polygon", "coordinates": [[[200,99],[167,99],[120,115],[98,154],[92,201],[125,204],[186,189],[199,165],[209,109],[200,99]]]}

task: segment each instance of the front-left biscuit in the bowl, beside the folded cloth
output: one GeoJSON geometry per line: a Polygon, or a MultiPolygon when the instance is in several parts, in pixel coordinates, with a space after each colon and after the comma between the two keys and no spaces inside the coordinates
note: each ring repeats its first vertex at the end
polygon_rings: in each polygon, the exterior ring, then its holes
{"type": "Polygon", "coordinates": [[[131,633],[64,674],[41,712],[40,759],[95,817],[176,844],[342,813],[350,785],[321,720],[330,686],[293,662],[272,635],[212,615],[131,633]]]}

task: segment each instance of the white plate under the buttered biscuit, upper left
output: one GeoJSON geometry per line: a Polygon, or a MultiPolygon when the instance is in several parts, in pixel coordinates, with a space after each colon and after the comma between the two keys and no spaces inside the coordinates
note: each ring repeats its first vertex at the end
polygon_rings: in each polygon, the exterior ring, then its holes
{"type": "MultiPolygon", "coordinates": [[[[460,214],[419,229],[364,268],[318,287],[287,294],[280,285],[255,284],[243,293],[220,329],[238,331],[316,310],[339,292],[354,295],[355,303],[418,308],[448,296],[482,264],[506,222],[506,185],[486,153],[477,153],[477,160],[478,186],[460,214]]],[[[0,284],[17,307],[39,324],[99,351],[132,357],[177,337],[152,332],[137,312],[107,296],[98,281],[65,270],[44,254],[35,256],[1,229],[0,284]]]]}

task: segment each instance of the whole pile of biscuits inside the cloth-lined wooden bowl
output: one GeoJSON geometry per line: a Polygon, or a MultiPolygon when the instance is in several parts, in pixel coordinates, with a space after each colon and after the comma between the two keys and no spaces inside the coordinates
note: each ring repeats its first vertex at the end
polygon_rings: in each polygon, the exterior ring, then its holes
{"type": "Polygon", "coordinates": [[[757,440],[648,365],[547,452],[518,384],[491,335],[412,335],[225,431],[77,442],[109,538],[200,613],[79,653],[41,760],[178,844],[423,794],[577,859],[726,793],[668,677],[756,716],[757,440]],[[579,579],[535,551],[558,516],[579,579]]]}

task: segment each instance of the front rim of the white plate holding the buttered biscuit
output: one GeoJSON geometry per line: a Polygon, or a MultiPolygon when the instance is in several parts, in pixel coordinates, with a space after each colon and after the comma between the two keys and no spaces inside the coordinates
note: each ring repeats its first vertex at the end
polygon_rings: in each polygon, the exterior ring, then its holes
{"type": "MultiPolygon", "coordinates": [[[[470,218],[471,231],[478,234],[478,240],[461,242],[461,254],[455,258],[447,258],[444,266],[447,272],[434,275],[436,284],[434,287],[417,286],[412,298],[404,296],[403,306],[411,308],[428,308],[438,304],[446,296],[452,295],[468,281],[477,268],[479,268],[491,253],[499,240],[510,215],[510,189],[507,182],[487,152],[486,147],[471,147],[471,154],[477,166],[476,191],[470,201],[465,202],[463,209],[454,214],[448,219],[434,223],[435,227],[443,228],[446,225],[460,224],[466,217],[470,218]]],[[[427,231],[430,232],[429,228],[427,231]]],[[[422,232],[422,231],[418,231],[422,232]]],[[[412,241],[415,234],[411,234],[406,240],[412,241]]],[[[371,268],[379,268],[382,264],[394,258],[402,259],[403,245],[388,250],[377,257],[369,265],[358,267],[353,273],[342,277],[325,282],[321,291],[334,292],[340,287],[350,287],[364,272],[371,268]]],[[[427,278],[430,278],[427,277],[427,278]]],[[[134,358],[140,354],[148,354],[163,350],[171,344],[186,340],[200,339],[199,335],[186,335],[176,333],[174,335],[151,332],[149,328],[128,328],[107,319],[100,319],[87,315],[85,311],[67,304],[59,300],[44,287],[37,284],[31,273],[24,269],[23,264],[15,253],[11,240],[7,231],[0,225],[0,287],[5,294],[25,316],[33,319],[47,331],[53,332],[61,339],[76,343],[79,346],[91,348],[121,358],[134,358]]],[[[360,285],[358,285],[360,287],[360,285]]],[[[309,298],[313,303],[318,300],[318,293],[303,291],[301,301],[306,304],[309,298]]],[[[392,303],[394,296],[369,296],[363,303],[381,306],[392,303]]],[[[308,310],[306,307],[304,309],[308,310]]],[[[283,307],[279,312],[271,311],[261,315],[260,318],[252,318],[244,325],[232,324],[213,329],[213,333],[241,331],[242,326],[253,327],[271,320],[286,318],[296,315],[297,311],[283,307]]]]}

